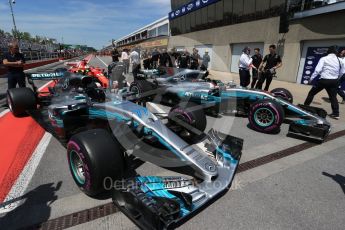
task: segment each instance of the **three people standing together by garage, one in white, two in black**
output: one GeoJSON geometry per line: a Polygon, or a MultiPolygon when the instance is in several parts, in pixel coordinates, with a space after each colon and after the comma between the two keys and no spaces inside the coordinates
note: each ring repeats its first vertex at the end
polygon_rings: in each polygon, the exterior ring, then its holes
{"type": "Polygon", "coordinates": [[[262,89],[266,81],[264,90],[268,91],[273,77],[276,75],[276,70],[283,65],[281,57],[276,53],[276,49],[275,45],[270,45],[269,54],[264,58],[262,58],[259,48],[254,49],[253,56],[250,56],[250,47],[245,47],[242,50],[238,63],[240,86],[248,87],[250,85],[252,89],[262,89]],[[250,69],[252,69],[251,84],[250,69]]]}

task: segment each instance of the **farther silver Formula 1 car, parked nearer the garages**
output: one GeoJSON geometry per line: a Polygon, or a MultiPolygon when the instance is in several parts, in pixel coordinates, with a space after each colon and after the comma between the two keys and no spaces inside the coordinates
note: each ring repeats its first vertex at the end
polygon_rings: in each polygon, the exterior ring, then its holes
{"type": "Polygon", "coordinates": [[[266,92],[242,88],[234,82],[211,80],[207,71],[143,70],[129,90],[150,101],[172,105],[172,110],[188,101],[201,105],[211,115],[245,115],[250,126],[263,133],[278,133],[281,124],[288,122],[289,136],[322,142],[331,130],[325,110],[292,104],[293,95],[286,89],[266,92]]]}

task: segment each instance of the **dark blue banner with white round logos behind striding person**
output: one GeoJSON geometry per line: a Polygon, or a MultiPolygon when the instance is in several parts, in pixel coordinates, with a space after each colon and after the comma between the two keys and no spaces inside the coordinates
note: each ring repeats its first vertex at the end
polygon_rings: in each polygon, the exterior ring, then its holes
{"type": "MultiPolygon", "coordinates": [[[[309,79],[314,73],[317,63],[319,63],[319,60],[322,57],[327,55],[328,48],[329,47],[308,47],[307,55],[305,57],[305,64],[303,67],[301,84],[309,84],[309,79]]],[[[340,47],[340,50],[343,49],[345,49],[345,47],[340,47]]],[[[345,84],[343,84],[342,89],[345,90],[345,84]]]]}

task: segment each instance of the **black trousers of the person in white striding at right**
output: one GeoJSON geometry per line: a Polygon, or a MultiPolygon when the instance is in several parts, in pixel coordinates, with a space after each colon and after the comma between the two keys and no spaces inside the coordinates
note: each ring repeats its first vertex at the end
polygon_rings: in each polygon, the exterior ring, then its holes
{"type": "Polygon", "coordinates": [[[317,84],[310,89],[304,105],[310,105],[314,99],[314,96],[325,89],[327,91],[329,100],[331,101],[333,114],[339,115],[339,102],[337,99],[338,85],[338,79],[320,79],[317,84]]]}

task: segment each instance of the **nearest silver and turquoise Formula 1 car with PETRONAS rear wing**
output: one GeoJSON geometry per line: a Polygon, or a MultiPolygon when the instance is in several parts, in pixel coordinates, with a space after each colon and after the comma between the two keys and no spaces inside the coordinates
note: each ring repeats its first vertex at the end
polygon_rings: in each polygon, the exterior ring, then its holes
{"type": "Polygon", "coordinates": [[[92,77],[56,72],[28,79],[32,88],[8,91],[12,113],[30,114],[56,136],[66,146],[78,187],[90,196],[111,190],[114,204],[140,228],[176,227],[231,186],[243,140],[193,130],[205,120],[202,110],[180,107],[176,114],[188,116],[186,123],[150,112],[127,100],[131,95],[106,94],[92,77]],[[41,93],[36,80],[55,84],[41,93]],[[197,132],[199,141],[177,135],[176,126],[197,132]],[[138,162],[145,161],[178,174],[138,175],[138,162]]]}

